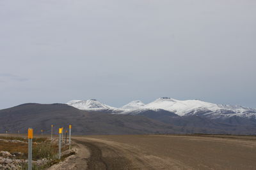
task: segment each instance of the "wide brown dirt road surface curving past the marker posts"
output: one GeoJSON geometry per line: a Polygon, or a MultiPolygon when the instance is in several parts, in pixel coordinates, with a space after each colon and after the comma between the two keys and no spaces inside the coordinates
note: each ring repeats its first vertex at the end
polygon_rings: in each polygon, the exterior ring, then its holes
{"type": "Polygon", "coordinates": [[[255,136],[76,136],[73,141],[84,150],[84,158],[80,153],[73,161],[80,169],[256,169],[255,136]]]}

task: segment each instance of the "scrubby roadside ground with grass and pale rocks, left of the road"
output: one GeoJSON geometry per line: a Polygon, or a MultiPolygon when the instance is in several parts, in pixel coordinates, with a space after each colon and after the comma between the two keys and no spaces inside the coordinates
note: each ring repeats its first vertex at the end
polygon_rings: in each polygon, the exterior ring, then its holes
{"type": "MultiPolygon", "coordinates": [[[[68,145],[61,148],[67,155],[68,145]],[[65,152],[66,151],[66,152],[65,152]]],[[[58,139],[33,138],[32,162],[33,169],[46,169],[60,162],[58,160],[58,139]]],[[[0,169],[28,169],[28,139],[15,136],[0,136],[0,169]]]]}

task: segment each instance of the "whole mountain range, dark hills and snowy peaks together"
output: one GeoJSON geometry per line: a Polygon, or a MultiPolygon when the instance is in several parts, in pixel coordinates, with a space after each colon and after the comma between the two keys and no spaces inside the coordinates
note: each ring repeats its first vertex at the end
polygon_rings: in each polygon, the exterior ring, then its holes
{"type": "Polygon", "coordinates": [[[27,103],[0,110],[0,132],[45,133],[72,124],[74,134],[256,134],[256,110],[243,106],[161,97],[120,108],[95,99],[67,104],[27,103]]]}

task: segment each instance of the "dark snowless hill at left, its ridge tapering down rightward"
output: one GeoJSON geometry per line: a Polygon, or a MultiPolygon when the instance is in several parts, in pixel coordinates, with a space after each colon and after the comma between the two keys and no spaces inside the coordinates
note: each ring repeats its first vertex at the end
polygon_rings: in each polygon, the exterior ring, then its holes
{"type": "Polygon", "coordinates": [[[72,124],[74,134],[147,134],[147,133],[175,133],[170,125],[147,117],[132,115],[111,115],[78,110],[67,104],[22,104],[13,108],[0,110],[0,132],[6,130],[16,133],[27,132],[33,127],[35,133],[40,134],[59,127],[67,128],[72,124]]]}

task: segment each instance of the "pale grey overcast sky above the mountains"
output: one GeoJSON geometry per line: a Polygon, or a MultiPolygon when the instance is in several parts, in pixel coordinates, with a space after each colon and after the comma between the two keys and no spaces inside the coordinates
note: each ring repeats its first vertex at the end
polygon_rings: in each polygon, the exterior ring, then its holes
{"type": "Polygon", "coordinates": [[[256,108],[255,0],[1,0],[0,109],[159,97],[256,108]]]}

